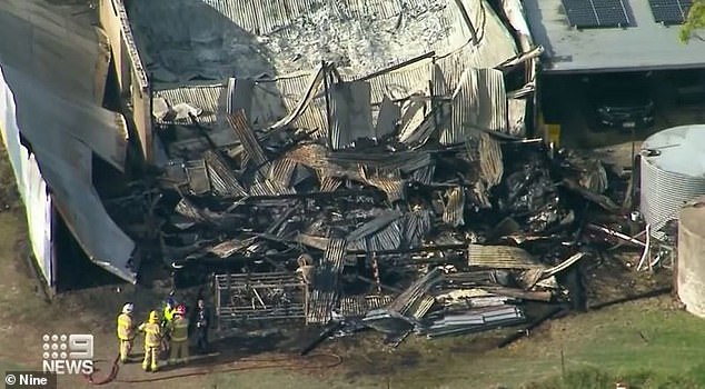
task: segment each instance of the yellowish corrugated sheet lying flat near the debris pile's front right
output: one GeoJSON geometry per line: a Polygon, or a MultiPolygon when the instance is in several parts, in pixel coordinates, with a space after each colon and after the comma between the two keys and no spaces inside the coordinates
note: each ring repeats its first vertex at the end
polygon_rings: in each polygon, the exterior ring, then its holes
{"type": "Polygon", "coordinates": [[[494,269],[546,269],[530,253],[510,246],[468,246],[468,265],[494,269]]]}

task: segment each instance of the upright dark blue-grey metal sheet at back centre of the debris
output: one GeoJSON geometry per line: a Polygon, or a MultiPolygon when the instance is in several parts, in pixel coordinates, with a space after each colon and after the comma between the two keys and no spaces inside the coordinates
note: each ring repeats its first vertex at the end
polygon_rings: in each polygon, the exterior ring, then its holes
{"type": "Polygon", "coordinates": [[[329,89],[330,143],[344,149],[357,139],[375,138],[370,86],[365,81],[339,82],[329,89]]]}

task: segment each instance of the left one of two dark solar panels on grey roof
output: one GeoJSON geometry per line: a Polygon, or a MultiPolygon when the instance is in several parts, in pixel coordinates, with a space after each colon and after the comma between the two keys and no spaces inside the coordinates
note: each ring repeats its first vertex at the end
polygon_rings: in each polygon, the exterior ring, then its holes
{"type": "Polygon", "coordinates": [[[568,22],[577,28],[627,27],[623,0],[562,0],[568,22]]]}

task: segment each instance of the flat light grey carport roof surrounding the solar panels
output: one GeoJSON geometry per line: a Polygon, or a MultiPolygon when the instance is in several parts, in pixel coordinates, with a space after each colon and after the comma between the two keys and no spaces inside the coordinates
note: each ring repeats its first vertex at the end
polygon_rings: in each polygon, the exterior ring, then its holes
{"type": "Polygon", "coordinates": [[[678,40],[679,26],[662,26],[646,0],[624,0],[632,26],[578,30],[568,24],[560,0],[524,0],[536,43],[550,73],[658,70],[705,67],[705,42],[678,40]]]}

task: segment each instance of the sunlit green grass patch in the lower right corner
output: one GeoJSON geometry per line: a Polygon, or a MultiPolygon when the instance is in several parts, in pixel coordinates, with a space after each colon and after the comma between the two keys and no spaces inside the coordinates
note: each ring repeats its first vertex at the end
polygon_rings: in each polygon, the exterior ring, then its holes
{"type": "MultiPolygon", "coordinates": [[[[457,345],[468,339],[448,341],[457,345]]],[[[440,353],[437,362],[396,373],[391,381],[399,388],[522,388],[526,382],[546,382],[546,388],[614,388],[624,378],[643,388],[674,387],[669,382],[705,388],[704,343],[705,321],[675,310],[664,297],[555,321],[509,349],[440,353]],[[550,386],[559,382],[564,369],[567,378],[585,383],[550,386]]]]}

